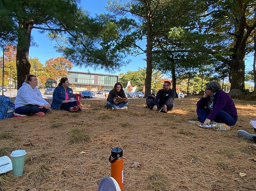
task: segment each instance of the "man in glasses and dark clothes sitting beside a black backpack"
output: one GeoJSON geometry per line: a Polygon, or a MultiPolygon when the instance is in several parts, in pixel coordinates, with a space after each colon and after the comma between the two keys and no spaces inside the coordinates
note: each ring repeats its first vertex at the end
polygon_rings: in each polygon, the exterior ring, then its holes
{"type": "Polygon", "coordinates": [[[156,93],[156,98],[147,103],[150,110],[167,113],[174,109],[175,92],[170,88],[171,82],[164,81],[163,89],[156,93]]]}

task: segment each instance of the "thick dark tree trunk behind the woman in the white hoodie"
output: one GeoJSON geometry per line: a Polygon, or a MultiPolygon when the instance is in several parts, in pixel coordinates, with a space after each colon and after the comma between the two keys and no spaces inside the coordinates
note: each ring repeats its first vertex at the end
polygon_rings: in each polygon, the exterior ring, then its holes
{"type": "Polygon", "coordinates": [[[17,67],[17,89],[22,86],[26,75],[30,71],[29,63],[29,48],[31,40],[31,30],[32,25],[24,22],[19,23],[18,31],[18,44],[17,44],[17,54],[16,54],[16,67],[17,67]]]}

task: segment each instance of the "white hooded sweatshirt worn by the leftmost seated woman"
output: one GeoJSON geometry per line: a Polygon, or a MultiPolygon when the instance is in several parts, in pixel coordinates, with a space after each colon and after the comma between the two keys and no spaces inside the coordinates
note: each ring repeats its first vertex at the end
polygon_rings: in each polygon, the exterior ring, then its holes
{"type": "Polygon", "coordinates": [[[42,94],[37,87],[32,89],[26,82],[24,82],[20,89],[18,89],[17,96],[14,101],[15,108],[25,106],[22,103],[34,103],[39,106],[49,104],[45,99],[43,99],[42,94]]]}

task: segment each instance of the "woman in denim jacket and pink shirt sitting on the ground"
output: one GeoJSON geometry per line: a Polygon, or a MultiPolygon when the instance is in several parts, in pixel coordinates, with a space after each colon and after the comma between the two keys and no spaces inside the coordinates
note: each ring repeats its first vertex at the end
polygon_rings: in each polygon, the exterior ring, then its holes
{"type": "Polygon", "coordinates": [[[68,87],[69,81],[66,77],[62,77],[60,79],[60,83],[53,91],[53,102],[51,103],[51,108],[61,109],[70,112],[79,111],[80,108],[77,106],[77,102],[75,100],[75,95],[73,90],[68,87]]]}

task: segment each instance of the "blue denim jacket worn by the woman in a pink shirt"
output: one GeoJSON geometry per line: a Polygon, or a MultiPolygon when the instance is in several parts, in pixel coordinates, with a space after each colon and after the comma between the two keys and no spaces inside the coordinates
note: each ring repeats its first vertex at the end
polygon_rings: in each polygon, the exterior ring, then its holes
{"type": "MultiPolygon", "coordinates": [[[[74,98],[75,96],[73,94],[73,90],[69,87],[67,87],[66,92],[68,93],[69,98],[74,98]]],[[[57,86],[53,91],[53,102],[51,103],[51,109],[60,109],[60,106],[62,104],[62,101],[64,101],[66,98],[65,89],[62,87],[62,85],[57,86]]]]}

